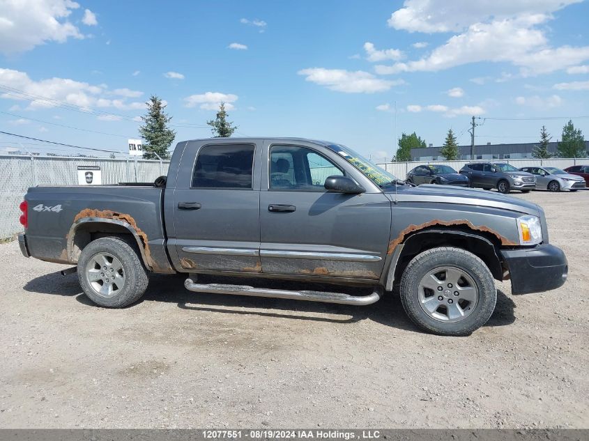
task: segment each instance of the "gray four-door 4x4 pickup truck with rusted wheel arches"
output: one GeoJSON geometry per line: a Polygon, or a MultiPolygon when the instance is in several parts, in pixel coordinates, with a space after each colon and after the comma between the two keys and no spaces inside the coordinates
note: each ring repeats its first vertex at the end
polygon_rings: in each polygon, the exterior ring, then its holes
{"type": "Polygon", "coordinates": [[[325,141],[183,141],[155,183],[33,187],[21,210],[22,254],[77,265],[84,293],[109,308],[137,302],[148,272],[185,273],[197,293],[354,305],[398,286],[415,324],[466,335],[493,313],[494,279],[523,294],[567,277],[539,206],[479,189],[412,187],[325,141]],[[199,284],[198,274],[333,289],[199,284]],[[337,285],[366,289],[350,295],[337,285]]]}

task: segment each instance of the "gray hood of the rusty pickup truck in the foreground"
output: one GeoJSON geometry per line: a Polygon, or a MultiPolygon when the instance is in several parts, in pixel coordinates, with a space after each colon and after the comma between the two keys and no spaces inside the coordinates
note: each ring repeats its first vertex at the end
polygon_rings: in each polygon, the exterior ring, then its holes
{"type": "MultiPolygon", "coordinates": [[[[526,173],[530,174],[530,173],[526,173]]],[[[418,187],[399,185],[395,194],[395,187],[385,189],[385,195],[391,201],[402,202],[431,202],[454,203],[468,206],[501,208],[525,213],[526,215],[541,216],[541,209],[535,203],[524,201],[507,194],[490,192],[484,189],[454,187],[452,185],[425,184],[418,187]]]]}

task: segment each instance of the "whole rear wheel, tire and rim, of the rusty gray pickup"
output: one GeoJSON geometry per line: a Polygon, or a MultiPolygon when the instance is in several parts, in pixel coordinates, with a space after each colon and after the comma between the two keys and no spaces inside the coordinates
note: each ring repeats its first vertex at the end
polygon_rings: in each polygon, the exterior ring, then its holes
{"type": "Polygon", "coordinates": [[[148,284],[139,256],[118,238],[100,238],[86,245],[77,273],[84,293],[105,308],[123,308],[137,302],[148,284]]]}

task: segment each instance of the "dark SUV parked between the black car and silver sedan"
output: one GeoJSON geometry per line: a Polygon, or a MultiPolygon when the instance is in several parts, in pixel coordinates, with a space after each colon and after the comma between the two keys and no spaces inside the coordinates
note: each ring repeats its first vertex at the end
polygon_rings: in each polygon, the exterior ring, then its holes
{"type": "Polygon", "coordinates": [[[527,193],[536,187],[532,173],[516,169],[506,162],[471,162],[459,171],[471,181],[471,187],[490,190],[495,187],[500,193],[521,190],[527,193]]]}

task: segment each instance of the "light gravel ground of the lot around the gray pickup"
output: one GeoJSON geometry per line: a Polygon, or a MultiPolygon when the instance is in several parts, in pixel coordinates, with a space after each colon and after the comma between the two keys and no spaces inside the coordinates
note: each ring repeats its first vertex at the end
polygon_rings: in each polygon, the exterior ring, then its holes
{"type": "Polygon", "coordinates": [[[76,274],[0,245],[2,428],[587,428],[589,190],[532,192],[565,286],[512,296],[486,326],[424,334],[369,307],[194,294],[151,277],[94,307],[76,274]]]}

